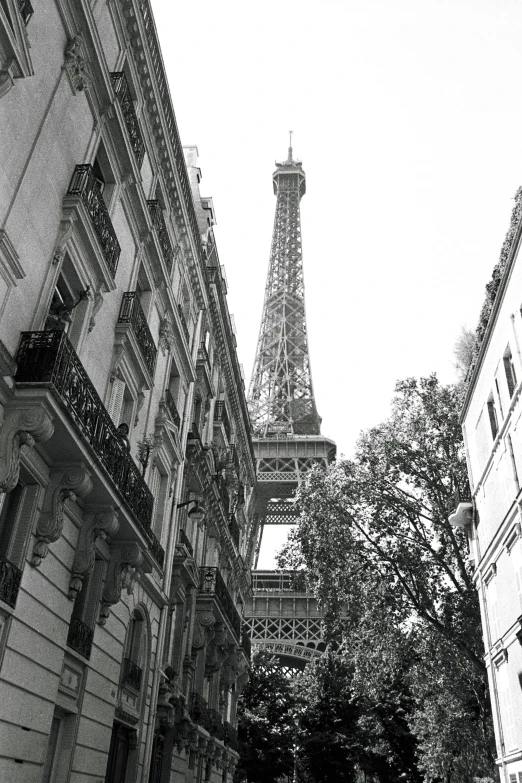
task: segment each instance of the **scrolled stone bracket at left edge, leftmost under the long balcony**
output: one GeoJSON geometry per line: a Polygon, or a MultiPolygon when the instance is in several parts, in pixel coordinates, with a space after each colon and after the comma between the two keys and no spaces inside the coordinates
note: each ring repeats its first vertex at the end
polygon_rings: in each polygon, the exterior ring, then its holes
{"type": "Polygon", "coordinates": [[[11,408],[0,414],[0,491],[10,492],[20,475],[20,449],[49,440],[54,432],[42,407],[11,408]]]}

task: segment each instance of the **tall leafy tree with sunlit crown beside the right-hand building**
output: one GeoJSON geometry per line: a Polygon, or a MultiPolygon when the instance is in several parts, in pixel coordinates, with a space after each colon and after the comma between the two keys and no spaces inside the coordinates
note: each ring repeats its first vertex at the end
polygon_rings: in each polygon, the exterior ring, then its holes
{"type": "Polygon", "coordinates": [[[306,566],[368,715],[394,681],[405,687],[419,763],[446,783],[491,774],[494,754],[467,539],[448,518],[468,489],[459,395],[435,375],[399,382],[391,416],[362,433],[355,458],[310,471],[280,558],[306,566]]]}

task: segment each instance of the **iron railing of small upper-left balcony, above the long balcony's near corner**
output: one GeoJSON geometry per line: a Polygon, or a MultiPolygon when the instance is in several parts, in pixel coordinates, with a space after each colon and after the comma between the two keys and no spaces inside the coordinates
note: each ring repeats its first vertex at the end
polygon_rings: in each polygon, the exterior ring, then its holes
{"type": "Polygon", "coordinates": [[[92,166],[82,163],[76,166],[71,178],[68,196],[80,196],[98,237],[107,266],[114,277],[120,259],[120,243],[109,217],[109,212],[100,192],[98,180],[92,173],[92,166]]]}

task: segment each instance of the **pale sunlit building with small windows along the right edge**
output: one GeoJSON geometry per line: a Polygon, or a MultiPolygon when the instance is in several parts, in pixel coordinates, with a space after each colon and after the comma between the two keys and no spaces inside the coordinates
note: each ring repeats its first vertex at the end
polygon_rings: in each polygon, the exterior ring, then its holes
{"type": "Polygon", "coordinates": [[[472,497],[461,498],[450,517],[468,530],[505,783],[522,781],[521,215],[519,191],[481,314],[462,411],[472,497]]]}

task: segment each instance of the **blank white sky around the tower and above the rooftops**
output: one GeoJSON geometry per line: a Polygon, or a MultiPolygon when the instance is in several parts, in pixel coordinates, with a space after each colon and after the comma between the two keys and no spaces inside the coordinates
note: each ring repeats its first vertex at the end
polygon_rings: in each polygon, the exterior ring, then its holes
{"type": "Polygon", "coordinates": [[[453,379],[522,185],[519,0],[152,0],[212,196],[250,378],[289,129],[303,161],[323,434],[351,454],[396,379],[453,379]]]}

